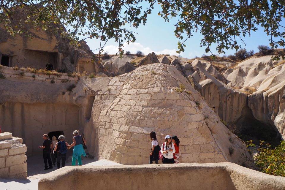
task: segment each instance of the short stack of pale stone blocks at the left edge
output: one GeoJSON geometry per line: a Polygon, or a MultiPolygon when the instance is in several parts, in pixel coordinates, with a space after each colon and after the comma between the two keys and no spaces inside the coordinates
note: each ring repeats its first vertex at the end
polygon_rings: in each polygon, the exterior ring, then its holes
{"type": "Polygon", "coordinates": [[[27,178],[27,147],[22,142],[12,133],[0,133],[0,178],[27,178]]]}

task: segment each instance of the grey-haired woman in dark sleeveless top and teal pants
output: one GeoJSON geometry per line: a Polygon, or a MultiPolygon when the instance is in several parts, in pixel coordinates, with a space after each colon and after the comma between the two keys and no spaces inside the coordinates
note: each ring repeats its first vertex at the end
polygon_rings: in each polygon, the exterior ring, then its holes
{"type": "Polygon", "coordinates": [[[81,135],[79,135],[79,131],[77,130],[73,132],[73,135],[74,135],[74,137],[72,137],[73,143],[68,146],[69,148],[74,146],[71,165],[75,166],[76,160],[78,160],[78,165],[81,166],[82,165],[81,155],[86,156],[82,143],[84,141],[84,144],[86,145],[86,141],[81,135]]]}

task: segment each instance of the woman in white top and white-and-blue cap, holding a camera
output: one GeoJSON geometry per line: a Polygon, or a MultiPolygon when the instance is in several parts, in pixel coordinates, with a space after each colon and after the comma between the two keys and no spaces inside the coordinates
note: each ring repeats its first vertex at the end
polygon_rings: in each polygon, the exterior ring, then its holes
{"type": "Polygon", "coordinates": [[[162,144],[160,152],[163,155],[162,164],[174,164],[173,153],[175,153],[174,145],[172,144],[171,137],[165,136],[165,142],[162,144]]]}

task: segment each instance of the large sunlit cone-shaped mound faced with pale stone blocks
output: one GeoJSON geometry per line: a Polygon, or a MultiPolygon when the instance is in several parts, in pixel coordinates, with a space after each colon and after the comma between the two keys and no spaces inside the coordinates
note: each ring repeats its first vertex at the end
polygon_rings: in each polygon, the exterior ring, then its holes
{"type": "Polygon", "coordinates": [[[98,159],[146,164],[151,148],[149,133],[155,131],[160,146],[166,134],[179,137],[181,163],[243,162],[238,151],[245,148],[243,142],[229,142],[230,136],[235,137],[175,67],[152,64],[135,72],[111,78],[108,88],[117,96],[104,107],[93,105],[94,110],[100,110],[93,116],[94,126],[99,123],[98,159]],[[177,91],[181,83],[187,92],[177,91]],[[121,90],[113,90],[119,86],[121,90]],[[229,155],[233,146],[237,151],[229,155]]]}

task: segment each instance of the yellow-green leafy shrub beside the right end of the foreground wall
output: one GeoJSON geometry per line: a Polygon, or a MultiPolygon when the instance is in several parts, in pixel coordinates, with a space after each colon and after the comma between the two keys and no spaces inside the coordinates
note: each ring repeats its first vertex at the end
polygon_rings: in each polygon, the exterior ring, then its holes
{"type": "MultiPolygon", "coordinates": [[[[281,145],[274,149],[271,149],[269,143],[264,143],[264,140],[260,141],[254,163],[263,173],[285,177],[285,141],[281,141],[281,145]]],[[[247,141],[246,144],[247,147],[256,146],[252,143],[252,140],[247,141]]]]}

